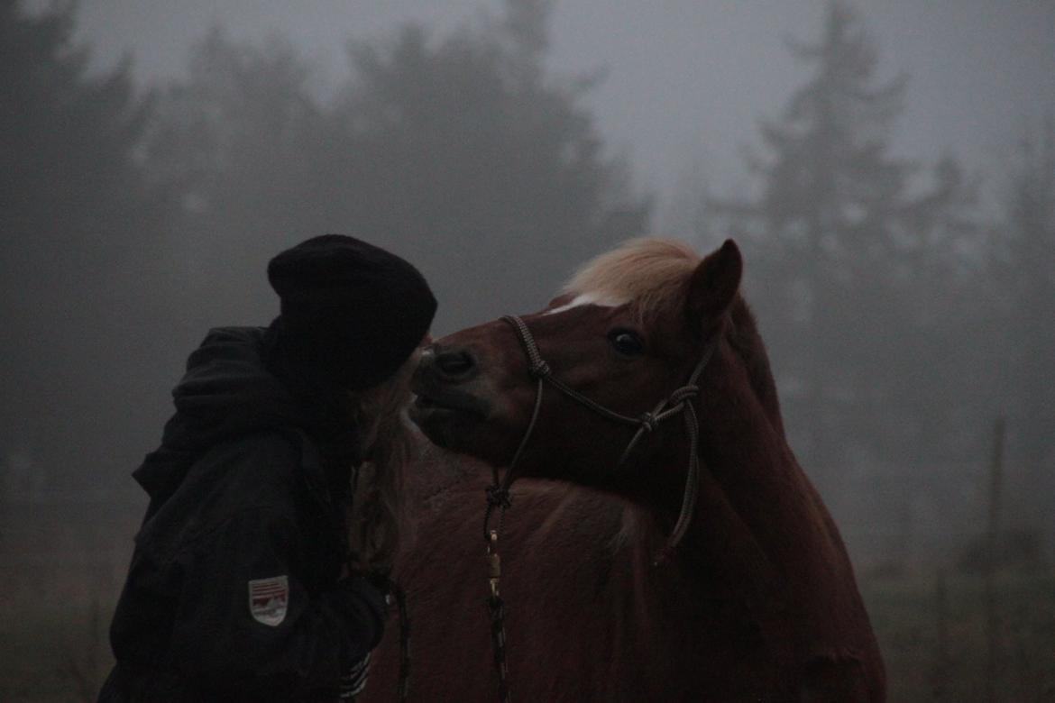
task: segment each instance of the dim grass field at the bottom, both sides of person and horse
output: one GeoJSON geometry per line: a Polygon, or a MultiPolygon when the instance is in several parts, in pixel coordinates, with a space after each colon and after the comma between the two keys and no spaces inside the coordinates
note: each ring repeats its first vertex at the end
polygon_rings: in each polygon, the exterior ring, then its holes
{"type": "MultiPolygon", "coordinates": [[[[945,580],[944,638],[935,577],[862,583],[895,703],[985,701],[987,649],[981,578],[945,580]],[[944,644],[940,644],[944,641],[944,644]]],[[[997,701],[1055,701],[1055,573],[997,580],[997,701]]],[[[110,668],[113,593],[96,604],[23,592],[0,618],[0,701],[94,700],[110,668]]]]}

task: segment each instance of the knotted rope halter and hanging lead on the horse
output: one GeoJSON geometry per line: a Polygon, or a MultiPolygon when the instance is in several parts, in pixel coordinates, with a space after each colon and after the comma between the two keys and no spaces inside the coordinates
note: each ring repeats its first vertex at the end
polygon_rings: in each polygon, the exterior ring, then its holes
{"type": "Polygon", "coordinates": [[[707,343],[699,362],[692,370],[688,382],[684,386],[675,389],[668,397],[656,404],[650,412],[645,412],[638,417],[631,417],[606,408],[582,395],[574,388],[567,386],[558,378],[555,378],[550,365],[542,358],[542,353],[539,351],[538,344],[535,341],[531,330],[528,329],[528,325],[516,315],[505,315],[502,319],[509,323],[516,331],[520,344],[528,355],[528,373],[531,374],[531,377],[536,383],[535,407],[532,410],[528,429],[524,430],[520,445],[517,447],[516,453],[513,454],[513,461],[510,462],[509,467],[505,469],[505,476],[501,477],[499,475],[498,467],[492,468],[493,483],[486,490],[487,509],[483,516],[483,539],[487,543],[488,581],[491,584],[491,595],[487,599],[487,606],[491,610],[491,642],[492,649],[494,650],[495,669],[498,672],[498,697],[502,703],[510,703],[509,666],[505,658],[505,603],[499,594],[499,582],[501,581],[502,569],[501,558],[498,554],[498,533],[501,530],[505,511],[512,505],[510,487],[516,479],[517,464],[528,446],[528,442],[531,440],[532,433],[535,431],[535,425],[538,423],[539,410],[542,407],[543,383],[550,384],[573,401],[609,419],[637,427],[637,431],[634,432],[634,436],[631,437],[630,443],[619,457],[617,467],[626,463],[631,452],[640,443],[641,437],[654,431],[659,423],[677,414],[685,416],[685,428],[689,434],[689,470],[685,479],[685,492],[682,495],[682,510],[678,513],[677,522],[667,538],[666,545],[654,561],[654,564],[658,565],[670,559],[682,538],[685,536],[686,531],[689,529],[689,524],[692,522],[692,513],[696,506],[696,495],[699,488],[699,427],[696,409],[692,405],[692,398],[699,394],[699,387],[696,386],[696,382],[699,379],[699,374],[703,372],[704,367],[707,366],[708,362],[714,355],[714,350],[717,347],[717,337],[715,336],[707,343]],[[498,528],[491,529],[491,518],[496,509],[498,510],[498,528]]]}

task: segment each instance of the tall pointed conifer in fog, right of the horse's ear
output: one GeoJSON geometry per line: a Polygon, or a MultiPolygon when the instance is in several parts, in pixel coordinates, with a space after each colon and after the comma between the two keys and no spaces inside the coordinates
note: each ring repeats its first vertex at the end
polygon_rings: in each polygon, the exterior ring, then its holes
{"type": "Polygon", "coordinates": [[[970,198],[953,159],[924,189],[917,164],[890,156],[905,80],[878,81],[876,48],[848,4],[832,1],[820,41],[791,51],[813,73],[762,124],[767,154],[749,161],[759,197],[709,204],[756,245],[789,425],[831,488],[845,475],[836,464],[855,453],[904,461],[929,412],[906,416],[903,393],[924,375],[914,355],[936,331],[926,296],[947,282],[942,267],[958,266],[950,239],[971,234],[957,219],[970,198]]]}

